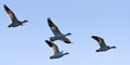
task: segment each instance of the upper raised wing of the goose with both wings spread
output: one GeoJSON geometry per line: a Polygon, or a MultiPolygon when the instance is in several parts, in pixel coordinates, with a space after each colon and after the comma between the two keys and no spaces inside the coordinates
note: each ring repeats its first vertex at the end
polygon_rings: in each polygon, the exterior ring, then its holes
{"type": "Polygon", "coordinates": [[[50,28],[51,28],[51,30],[54,35],[61,35],[62,34],[60,31],[60,29],[57,28],[57,26],[51,21],[50,17],[48,18],[48,24],[49,24],[49,26],[50,26],[50,28]]]}

